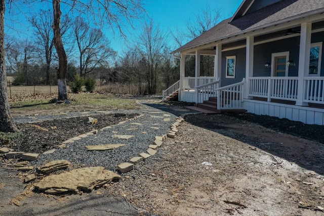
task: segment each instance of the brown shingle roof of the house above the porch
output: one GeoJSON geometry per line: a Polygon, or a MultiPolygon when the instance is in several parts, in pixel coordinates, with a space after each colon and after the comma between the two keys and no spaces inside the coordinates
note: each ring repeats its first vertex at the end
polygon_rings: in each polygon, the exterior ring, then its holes
{"type": "Polygon", "coordinates": [[[324,0],[282,0],[253,13],[234,19],[230,23],[229,21],[231,18],[223,20],[172,53],[204,45],[224,37],[230,37],[241,31],[256,30],[271,25],[271,23],[278,24],[280,21],[284,22],[286,19],[303,14],[307,15],[307,13],[317,10],[318,12],[324,12],[324,0]]]}

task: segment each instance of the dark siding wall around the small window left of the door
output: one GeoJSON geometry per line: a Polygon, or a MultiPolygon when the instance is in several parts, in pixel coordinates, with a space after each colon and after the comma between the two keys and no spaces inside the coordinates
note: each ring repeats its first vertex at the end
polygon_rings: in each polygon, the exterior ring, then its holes
{"type": "Polygon", "coordinates": [[[242,79],[245,78],[245,66],[246,66],[246,48],[222,52],[221,85],[227,86],[242,81],[242,79]],[[235,78],[225,78],[226,77],[226,56],[236,56],[235,78]]]}

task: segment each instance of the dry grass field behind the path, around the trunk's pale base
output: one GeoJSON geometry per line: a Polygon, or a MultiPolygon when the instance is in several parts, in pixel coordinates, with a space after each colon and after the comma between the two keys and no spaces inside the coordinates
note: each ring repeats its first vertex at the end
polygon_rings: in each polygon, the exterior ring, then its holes
{"type": "Polygon", "coordinates": [[[135,99],[125,99],[113,94],[68,93],[70,103],[53,103],[57,86],[12,86],[8,88],[12,113],[35,114],[39,112],[67,112],[89,110],[138,109],[135,99]],[[11,94],[10,94],[11,91],[11,94]],[[50,93],[51,91],[51,93],[50,93]]]}

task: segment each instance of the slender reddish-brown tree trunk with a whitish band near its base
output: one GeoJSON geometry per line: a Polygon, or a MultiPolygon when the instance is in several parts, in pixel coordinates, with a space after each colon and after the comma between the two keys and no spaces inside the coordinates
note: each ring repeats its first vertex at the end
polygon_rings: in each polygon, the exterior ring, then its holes
{"type": "Polygon", "coordinates": [[[67,56],[64,50],[62,35],[61,35],[61,6],[60,0],[53,0],[54,10],[54,45],[59,58],[59,68],[57,71],[57,87],[58,87],[58,100],[67,100],[66,90],[66,72],[67,72],[67,56]]]}

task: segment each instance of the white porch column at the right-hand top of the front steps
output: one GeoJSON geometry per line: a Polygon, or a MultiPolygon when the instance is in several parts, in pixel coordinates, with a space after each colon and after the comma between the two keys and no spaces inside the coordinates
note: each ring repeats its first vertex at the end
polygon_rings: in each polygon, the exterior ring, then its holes
{"type": "Polygon", "coordinates": [[[249,97],[249,83],[250,77],[253,77],[253,57],[254,57],[254,37],[247,37],[247,50],[246,50],[246,67],[245,67],[245,92],[243,98],[251,99],[249,97]]]}

